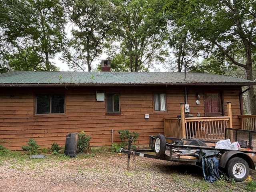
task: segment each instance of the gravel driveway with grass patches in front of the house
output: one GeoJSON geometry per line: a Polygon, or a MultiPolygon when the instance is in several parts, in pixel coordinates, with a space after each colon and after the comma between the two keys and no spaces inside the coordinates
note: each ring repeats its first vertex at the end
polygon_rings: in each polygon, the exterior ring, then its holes
{"type": "MultiPolygon", "coordinates": [[[[255,181],[255,172],[251,174],[255,181]]],[[[1,192],[225,192],[246,191],[248,182],[204,182],[199,167],[97,152],[94,156],[25,160],[0,157],[1,192]]]]}

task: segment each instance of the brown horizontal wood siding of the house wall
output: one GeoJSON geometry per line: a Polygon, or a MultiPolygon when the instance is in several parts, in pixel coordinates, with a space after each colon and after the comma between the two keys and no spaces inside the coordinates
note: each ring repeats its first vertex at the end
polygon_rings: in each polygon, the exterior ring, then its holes
{"type": "MultiPolygon", "coordinates": [[[[190,114],[204,116],[203,91],[207,87],[189,87],[190,114]],[[200,93],[200,104],[196,104],[200,93]]],[[[217,89],[217,88],[216,88],[217,89]]],[[[211,89],[209,89],[211,90],[211,89]]],[[[240,88],[220,88],[226,101],[232,102],[234,128],[240,126],[240,88]]],[[[28,138],[34,138],[41,148],[53,142],[65,145],[66,135],[84,131],[91,136],[90,146],[111,146],[119,143],[118,130],[138,132],[138,144],[148,145],[149,135],[163,134],[163,118],[180,115],[180,103],[185,102],[182,87],[129,88],[2,88],[0,93],[0,144],[11,150],[21,150],[28,138]],[[96,91],[120,94],[120,114],[106,114],[105,102],[96,101],[96,91]],[[116,91],[115,91],[116,90],[116,91]],[[34,97],[37,93],[64,93],[65,114],[35,115],[34,97]],[[166,93],[167,111],[154,112],[153,94],[166,93]],[[149,119],[145,119],[149,114],[149,119]]]]}

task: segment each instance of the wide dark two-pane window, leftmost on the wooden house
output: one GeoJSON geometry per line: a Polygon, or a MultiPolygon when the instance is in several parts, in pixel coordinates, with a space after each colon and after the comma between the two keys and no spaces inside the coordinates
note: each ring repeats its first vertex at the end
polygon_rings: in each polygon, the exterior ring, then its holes
{"type": "Polygon", "coordinates": [[[64,94],[36,95],[36,114],[64,113],[64,94]]]}

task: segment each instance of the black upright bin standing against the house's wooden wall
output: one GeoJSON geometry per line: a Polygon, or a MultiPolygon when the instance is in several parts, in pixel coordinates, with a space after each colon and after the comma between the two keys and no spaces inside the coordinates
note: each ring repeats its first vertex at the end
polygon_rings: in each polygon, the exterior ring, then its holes
{"type": "Polygon", "coordinates": [[[66,144],[64,154],[66,156],[75,157],[77,155],[78,134],[70,133],[66,136],[66,144]]]}

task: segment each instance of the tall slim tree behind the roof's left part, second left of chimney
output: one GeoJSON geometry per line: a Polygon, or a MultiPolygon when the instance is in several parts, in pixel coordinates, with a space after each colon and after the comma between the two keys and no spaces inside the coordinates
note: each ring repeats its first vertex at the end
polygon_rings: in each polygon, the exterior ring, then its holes
{"type": "Polygon", "coordinates": [[[66,15],[61,0],[27,0],[34,11],[28,29],[28,38],[44,54],[46,70],[50,70],[50,58],[62,51],[66,32],[66,15]]]}

